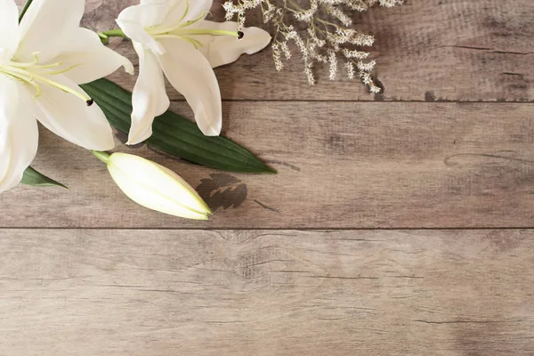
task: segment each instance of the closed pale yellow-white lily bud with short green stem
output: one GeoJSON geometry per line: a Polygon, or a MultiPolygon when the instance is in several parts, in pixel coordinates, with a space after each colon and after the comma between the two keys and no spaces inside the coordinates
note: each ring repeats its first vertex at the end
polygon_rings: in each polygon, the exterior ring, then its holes
{"type": "Polygon", "coordinates": [[[137,204],[186,219],[207,220],[212,214],[197,191],[166,167],[127,153],[93,154],[108,166],[118,187],[137,204]]]}

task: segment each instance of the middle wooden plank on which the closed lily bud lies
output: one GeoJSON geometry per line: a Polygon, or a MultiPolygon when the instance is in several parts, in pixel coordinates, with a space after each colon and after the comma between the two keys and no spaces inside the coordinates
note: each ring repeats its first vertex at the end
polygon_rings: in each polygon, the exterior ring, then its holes
{"type": "MultiPolygon", "coordinates": [[[[186,115],[185,103],[174,109],[186,115]]],[[[216,209],[208,223],[148,211],[91,153],[42,130],[36,169],[70,190],[0,195],[2,227],[531,227],[532,104],[225,102],[224,131],[278,175],[223,174],[146,147],[216,209]]]]}

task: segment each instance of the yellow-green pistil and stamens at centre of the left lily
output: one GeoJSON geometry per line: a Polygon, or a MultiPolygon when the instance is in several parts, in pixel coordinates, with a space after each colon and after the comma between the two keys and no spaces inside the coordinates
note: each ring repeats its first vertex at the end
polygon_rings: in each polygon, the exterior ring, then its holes
{"type": "Polygon", "coordinates": [[[57,81],[49,78],[49,76],[55,76],[68,72],[77,66],[71,66],[67,69],[53,70],[61,67],[63,64],[61,61],[53,64],[40,65],[38,64],[38,57],[34,53],[34,61],[32,62],[18,62],[8,61],[6,63],[0,63],[0,74],[4,74],[8,77],[20,80],[28,85],[33,86],[36,89],[36,98],[42,93],[41,85],[50,85],[54,88],[60,89],[65,93],[71,93],[77,98],[85,101],[87,106],[93,105],[93,99],[83,93],[78,93],[76,90],[69,88],[67,85],[62,85],[57,81]]]}

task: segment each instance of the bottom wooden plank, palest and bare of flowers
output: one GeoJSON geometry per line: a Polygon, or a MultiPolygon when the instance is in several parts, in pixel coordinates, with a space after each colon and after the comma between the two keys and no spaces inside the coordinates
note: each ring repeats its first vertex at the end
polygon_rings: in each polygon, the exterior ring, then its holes
{"type": "Polygon", "coordinates": [[[534,231],[0,231],[0,354],[531,355],[534,231]]]}

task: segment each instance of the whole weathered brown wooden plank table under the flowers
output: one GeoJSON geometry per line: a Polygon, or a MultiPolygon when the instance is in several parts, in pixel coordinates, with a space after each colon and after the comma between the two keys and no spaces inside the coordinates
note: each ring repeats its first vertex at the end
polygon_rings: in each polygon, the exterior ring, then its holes
{"type": "MultiPolygon", "coordinates": [[[[84,25],[128,4],[88,1],[84,25]]],[[[0,196],[0,355],[533,355],[533,16],[532,0],[360,15],[376,96],[325,71],[309,88],[270,51],[217,69],[224,134],[278,175],[117,137],[210,197],[208,223],[135,205],[42,130],[34,166],[70,190],[0,196]]]]}

